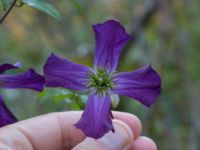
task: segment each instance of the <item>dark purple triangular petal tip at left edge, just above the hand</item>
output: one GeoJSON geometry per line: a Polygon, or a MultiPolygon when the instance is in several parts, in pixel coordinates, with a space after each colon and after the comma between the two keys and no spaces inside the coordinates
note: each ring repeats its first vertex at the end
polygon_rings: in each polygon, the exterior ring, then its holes
{"type": "Polygon", "coordinates": [[[17,122],[15,116],[6,107],[3,98],[0,96],[0,127],[17,122]]]}

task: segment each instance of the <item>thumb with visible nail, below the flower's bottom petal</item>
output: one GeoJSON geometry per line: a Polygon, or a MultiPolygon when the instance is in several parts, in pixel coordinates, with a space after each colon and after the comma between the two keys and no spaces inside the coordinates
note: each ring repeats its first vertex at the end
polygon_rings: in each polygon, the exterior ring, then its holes
{"type": "Polygon", "coordinates": [[[86,138],[72,150],[129,150],[133,143],[133,132],[120,120],[113,120],[115,132],[105,134],[101,139],[86,138]]]}

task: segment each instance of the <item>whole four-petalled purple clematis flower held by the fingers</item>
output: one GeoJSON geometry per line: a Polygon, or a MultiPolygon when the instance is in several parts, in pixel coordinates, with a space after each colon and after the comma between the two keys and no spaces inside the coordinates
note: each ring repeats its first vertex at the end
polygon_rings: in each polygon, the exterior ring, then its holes
{"type": "Polygon", "coordinates": [[[46,85],[88,91],[88,101],[75,126],[98,139],[114,128],[111,94],[125,95],[151,106],[161,92],[161,79],[150,65],[118,73],[116,67],[124,45],[131,39],[115,20],[93,25],[96,48],[94,68],[51,54],[44,66],[46,85]]]}

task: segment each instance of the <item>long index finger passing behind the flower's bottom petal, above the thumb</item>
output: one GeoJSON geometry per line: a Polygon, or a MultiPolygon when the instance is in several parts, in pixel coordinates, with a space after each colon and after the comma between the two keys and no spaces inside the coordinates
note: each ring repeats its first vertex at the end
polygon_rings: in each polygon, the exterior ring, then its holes
{"type": "MultiPolygon", "coordinates": [[[[0,139],[3,139],[4,143],[10,147],[15,148],[15,144],[18,143],[18,145],[28,147],[25,149],[30,149],[30,145],[33,149],[38,150],[70,149],[85,138],[83,132],[74,127],[81,114],[81,111],[52,113],[21,121],[0,128],[0,139]]],[[[130,116],[127,113],[120,112],[114,112],[113,114],[116,119],[126,122],[133,132],[137,133],[141,129],[141,123],[133,115],[130,116]]]]}

